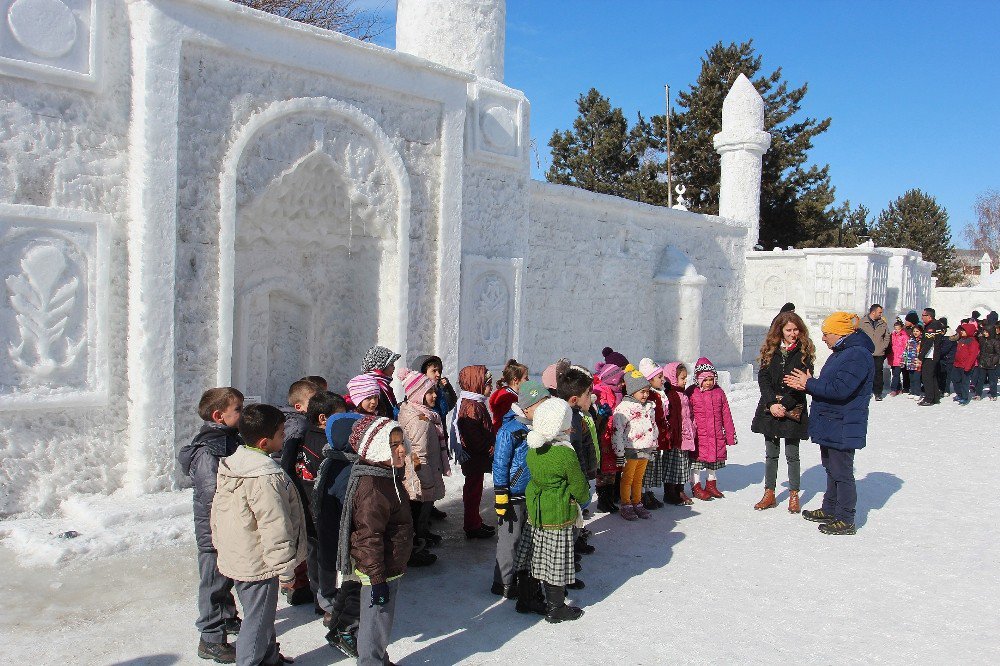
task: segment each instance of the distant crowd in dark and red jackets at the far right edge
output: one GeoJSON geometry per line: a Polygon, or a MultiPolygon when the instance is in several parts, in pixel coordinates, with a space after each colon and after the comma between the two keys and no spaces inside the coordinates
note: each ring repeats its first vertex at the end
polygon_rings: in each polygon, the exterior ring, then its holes
{"type": "Polygon", "coordinates": [[[944,317],[923,325],[916,312],[897,319],[888,350],[892,375],[889,395],[906,394],[926,405],[936,402],[929,396],[954,394],[955,401],[967,405],[981,400],[988,388],[989,399],[995,401],[1000,379],[1000,321],[996,312],[985,319],[980,316],[973,312],[951,335],[944,317]],[[936,363],[933,377],[924,371],[927,359],[936,363]]]}

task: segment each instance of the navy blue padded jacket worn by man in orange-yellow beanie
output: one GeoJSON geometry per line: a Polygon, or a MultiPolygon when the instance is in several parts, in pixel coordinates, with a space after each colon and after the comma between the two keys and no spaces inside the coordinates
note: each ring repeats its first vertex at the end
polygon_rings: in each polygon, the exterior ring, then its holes
{"type": "Polygon", "coordinates": [[[806,381],[813,397],[809,437],[833,449],[863,449],[868,434],[875,344],[855,331],[842,338],[818,377],[806,381]]]}

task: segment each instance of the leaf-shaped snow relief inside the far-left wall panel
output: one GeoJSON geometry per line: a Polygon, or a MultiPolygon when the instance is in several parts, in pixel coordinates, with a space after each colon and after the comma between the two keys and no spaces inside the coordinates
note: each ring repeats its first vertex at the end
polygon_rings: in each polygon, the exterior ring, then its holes
{"type": "Polygon", "coordinates": [[[77,306],[79,281],[66,274],[66,257],[52,245],[35,245],[21,259],[21,275],[7,278],[20,341],[8,351],[18,369],[49,377],[73,365],[85,337],[66,338],[77,306]]]}

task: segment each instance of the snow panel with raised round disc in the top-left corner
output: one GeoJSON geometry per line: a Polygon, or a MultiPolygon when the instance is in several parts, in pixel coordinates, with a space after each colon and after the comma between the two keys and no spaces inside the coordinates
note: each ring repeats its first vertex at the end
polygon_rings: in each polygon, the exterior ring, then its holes
{"type": "Polygon", "coordinates": [[[0,0],[0,74],[94,89],[104,14],[98,0],[0,0]]]}

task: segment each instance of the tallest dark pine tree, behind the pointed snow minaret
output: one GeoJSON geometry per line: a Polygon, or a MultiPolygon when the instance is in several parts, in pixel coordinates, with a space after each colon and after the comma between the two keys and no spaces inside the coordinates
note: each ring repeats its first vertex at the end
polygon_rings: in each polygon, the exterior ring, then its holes
{"type": "MultiPolygon", "coordinates": [[[[691,209],[718,214],[720,158],[712,138],[722,130],[726,94],[743,73],[764,98],[764,129],[772,137],[761,178],[761,242],[765,247],[835,244],[839,225],[832,209],[834,188],[829,168],[807,165],[813,139],[829,128],[830,119],[795,118],[808,86],[791,88],[782,79],[780,67],[757,76],[761,57],[755,54],[752,40],[728,46],[719,42],[701,63],[697,82],[677,96],[677,107],[683,110],[670,116],[671,171],[674,182],[687,188],[685,196],[693,202],[691,209]]],[[[657,138],[664,142],[662,117],[651,120],[657,138]]]]}

